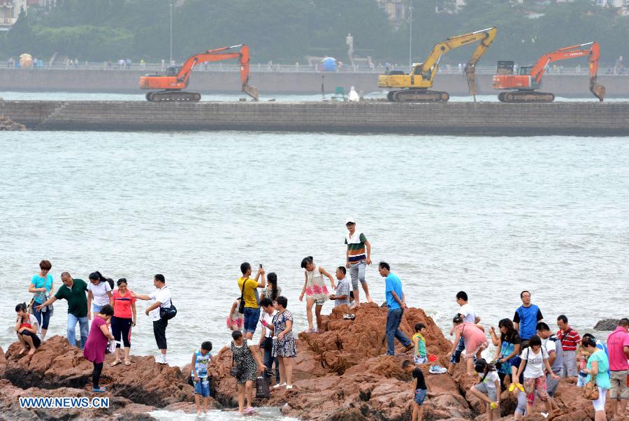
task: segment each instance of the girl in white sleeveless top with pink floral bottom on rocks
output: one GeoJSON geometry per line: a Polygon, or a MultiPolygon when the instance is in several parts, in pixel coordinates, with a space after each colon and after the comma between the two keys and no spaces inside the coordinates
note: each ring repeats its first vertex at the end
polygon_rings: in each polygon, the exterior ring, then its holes
{"type": "Polygon", "coordinates": [[[328,287],[323,279],[327,276],[330,279],[332,289],[335,290],[334,279],[332,276],[321,266],[316,266],[312,262],[312,256],[305,257],[301,261],[301,267],[304,270],[305,283],[303,289],[299,295],[299,301],[303,301],[303,296],[306,296],[306,317],[308,317],[308,329],[304,331],[305,334],[318,334],[321,329],[321,308],[330,295],[328,287]],[[312,327],[312,306],[315,306],[315,315],[317,316],[317,329],[312,327]]]}

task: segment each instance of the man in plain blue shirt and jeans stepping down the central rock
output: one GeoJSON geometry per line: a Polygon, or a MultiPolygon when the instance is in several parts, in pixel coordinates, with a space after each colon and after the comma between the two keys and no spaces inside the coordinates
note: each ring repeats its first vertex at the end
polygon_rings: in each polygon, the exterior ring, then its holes
{"type": "Polygon", "coordinates": [[[386,306],[389,307],[389,313],[386,315],[386,354],[395,355],[395,341],[398,341],[406,347],[406,350],[412,348],[413,343],[400,330],[400,322],[406,307],[404,292],[402,292],[402,282],[400,278],[391,273],[391,267],[386,262],[380,262],[378,265],[380,276],[384,278],[386,306]]]}

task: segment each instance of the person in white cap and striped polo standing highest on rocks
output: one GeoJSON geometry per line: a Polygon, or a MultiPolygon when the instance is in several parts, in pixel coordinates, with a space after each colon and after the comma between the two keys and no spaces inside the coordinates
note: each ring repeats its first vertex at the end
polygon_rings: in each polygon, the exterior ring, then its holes
{"type": "Polygon", "coordinates": [[[365,291],[365,297],[368,303],[373,303],[373,299],[369,294],[369,287],[365,280],[365,269],[371,264],[371,244],[367,241],[367,237],[362,232],[356,232],[356,220],[348,217],[345,221],[347,227],[347,236],[345,236],[345,244],[347,244],[347,261],[345,267],[349,269],[349,276],[352,278],[352,290],[354,292],[354,306],[361,305],[359,297],[359,281],[365,291]]]}

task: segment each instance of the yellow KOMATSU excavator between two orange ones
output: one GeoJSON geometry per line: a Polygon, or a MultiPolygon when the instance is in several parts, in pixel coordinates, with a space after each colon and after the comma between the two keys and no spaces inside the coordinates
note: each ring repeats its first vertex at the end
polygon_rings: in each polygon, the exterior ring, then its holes
{"type": "Polygon", "coordinates": [[[439,61],[446,52],[454,48],[464,47],[471,43],[478,42],[476,50],[470,61],[465,64],[465,78],[468,80],[470,94],[476,101],[476,64],[483,57],[489,45],[496,38],[496,27],[475,31],[470,34],[452,36],[433,47],[426,62],[413,64],[409,74],[403,71],[389,71],[378,76],[378,86],[385,88],[401,88],[401,90],[391,90],[386,95],[386,99],[395,102],[445,102],[450,99],[447,92],[430,91],[433,87],[433,80],[439,67],[439,61]]]}

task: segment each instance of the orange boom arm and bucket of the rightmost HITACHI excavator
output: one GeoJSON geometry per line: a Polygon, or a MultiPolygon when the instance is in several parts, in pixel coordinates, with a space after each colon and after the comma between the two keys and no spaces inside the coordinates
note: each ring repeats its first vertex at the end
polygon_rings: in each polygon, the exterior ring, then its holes
{"type": "Polygon", "coordinates": [[[553,62],[560,60],[575,59],[578,57],[588,57],[590,67],[590,92],[594,94],[600,101],[605,98],[605,87],[596,83],[598,76],[598,59],[600,57],[600,46],[596,41],[579,45],[571,45],[570,47],[560,48],[554,52],[542,55],[537,60],[532,69],[530,69],[530,78],[536,83],[542,83],[542,76],[546,73],[546,68],[553,62]],[[591,45],[590,48],[584,50],[583,47],[591,45]]]}

